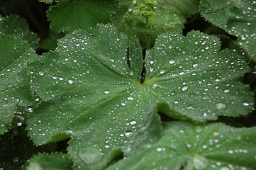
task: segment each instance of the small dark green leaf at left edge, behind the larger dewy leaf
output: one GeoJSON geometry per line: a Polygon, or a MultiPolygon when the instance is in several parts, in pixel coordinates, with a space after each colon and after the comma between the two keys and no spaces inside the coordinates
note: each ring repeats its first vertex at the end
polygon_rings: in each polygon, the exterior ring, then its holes
{"type": "Polygon", "coordinates": [[[22,38],[34,49],[38,46],[38,36],[35,33],[30,32],[26,20],[16,15],[6,17],[0,16],[0,34],[13,35],[22,38]]]}

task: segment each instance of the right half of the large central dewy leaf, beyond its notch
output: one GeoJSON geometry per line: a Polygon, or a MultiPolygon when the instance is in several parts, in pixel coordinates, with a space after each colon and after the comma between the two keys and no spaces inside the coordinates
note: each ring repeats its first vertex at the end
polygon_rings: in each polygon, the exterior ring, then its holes
{"type": "Polygon", "coordinates": [[[191,31],[157,38],[145,57],[146,79],[160,111],[174,118],[215,120],[218,115],[238,116],[253,108],[249,88],[237,77],[248,69],[245,60],[211,35],[191,31]],[[232,74],[230,74],[232,73],[232,74]],[[166,106],[171,108],[167,111],[166,106]]]}

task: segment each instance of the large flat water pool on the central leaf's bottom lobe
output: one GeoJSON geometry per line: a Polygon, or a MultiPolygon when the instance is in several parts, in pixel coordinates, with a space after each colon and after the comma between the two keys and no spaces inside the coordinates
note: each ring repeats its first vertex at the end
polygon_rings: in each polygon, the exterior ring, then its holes
{"type": "Polygon", "coordinates": [[[86,164],[94,164],[101,160],[102,154],[101,152],[99,152],[99,149],[96,149],[93,147],[87,147],[82,149],[82,151],[79,152],[79,157],[86,164]]]}

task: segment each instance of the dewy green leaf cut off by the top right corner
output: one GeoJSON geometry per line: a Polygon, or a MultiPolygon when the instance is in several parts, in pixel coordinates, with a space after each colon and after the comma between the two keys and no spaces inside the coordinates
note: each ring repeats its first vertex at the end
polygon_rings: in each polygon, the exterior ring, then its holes
{"type": "Polygon", "coordinates": [[[256,1],[202,0],[206,20],[238,37],[238,44],[256,61],[256,1]]]}

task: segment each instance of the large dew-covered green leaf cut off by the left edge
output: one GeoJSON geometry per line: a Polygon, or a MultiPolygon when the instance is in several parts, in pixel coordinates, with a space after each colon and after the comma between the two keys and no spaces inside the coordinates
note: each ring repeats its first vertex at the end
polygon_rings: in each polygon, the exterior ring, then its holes
{"type": "Polygon", "coordinates": [[[0,134],[11,124],[16,104],[32,105],[30,77],[26,62],[36,57],[26,41],[9,35],[0,35],[0,134]]]}

